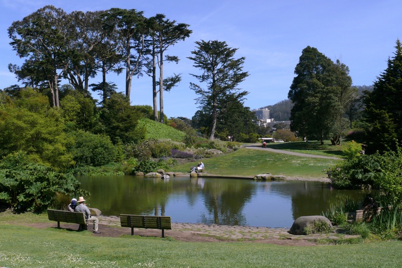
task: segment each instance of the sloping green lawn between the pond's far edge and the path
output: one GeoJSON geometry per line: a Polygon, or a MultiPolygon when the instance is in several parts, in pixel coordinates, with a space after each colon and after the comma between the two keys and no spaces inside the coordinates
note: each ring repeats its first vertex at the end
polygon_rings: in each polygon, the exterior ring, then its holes
{"type": "MultiPolygon", "coordinates": [[[[246,148],[203,159],[205,170],[209,174],[251,177],[262,173],[292,177],[324,177],[326,174],[323,169],[328,169],[337,161],[341,160],[299,157],[246,148]]],[[[172,168],[172,171],[187,172],[190,166],[196,164],[197,161],[177,165],[172,168]]]]}

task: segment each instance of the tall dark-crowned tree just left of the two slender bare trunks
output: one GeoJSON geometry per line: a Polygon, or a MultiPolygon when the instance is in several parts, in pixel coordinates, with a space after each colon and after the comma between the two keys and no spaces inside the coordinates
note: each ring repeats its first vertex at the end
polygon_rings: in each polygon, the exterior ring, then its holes
{"type": "Polygon", "coordinates": [[[134,75],[141,75],[142,55],[145,47],[146,18],[142,11],[113,8],[102,14],[104,30],[116,32],[118,46],[126,67],[126,97],[130,99],[134,75]]]}

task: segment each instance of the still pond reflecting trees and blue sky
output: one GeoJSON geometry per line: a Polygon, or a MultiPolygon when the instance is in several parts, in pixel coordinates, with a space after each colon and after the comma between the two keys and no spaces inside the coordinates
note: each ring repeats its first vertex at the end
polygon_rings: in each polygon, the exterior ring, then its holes
{"type": "Polygon", "coordinates": [[[254,181],[239,178],[79,176],[91,193],[88,206],[103,215],[165,215],[172,222],[291,227],[300,216],[321,215],[347,198],[367,192],[335,190],[328,183],[254,181]]]}

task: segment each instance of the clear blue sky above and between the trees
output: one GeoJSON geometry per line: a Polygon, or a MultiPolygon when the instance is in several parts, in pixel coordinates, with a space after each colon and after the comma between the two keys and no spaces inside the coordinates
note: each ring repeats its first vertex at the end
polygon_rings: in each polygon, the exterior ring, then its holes
{"type": "MultiPolygon", "coordinates": [[[[170,20],[189,24],[192,35],[168,51],[177,55],[180,62],[165,64],[164,68],[165,76],[182,74],[180,84],[170,93],[164,93],[164,111],[168,117],[191,118],[198,110],[196,95],[189,89],[189,83],[197,81],[189,73],[198,74],[199,70],[186,58],[191,56],[195,41],[225,41],[230,47],[238,48],[236,57],[246,58],[244,71],[249,72],[240,85],[249,92],[244,104],[256,109],[287,99],[294,67],[307,46],[316,47],[333,61],[340,59],[349,66],[354,85],[370,85],[386,68],[388,57],[395,51],[396,39],[402,39],[400,0],[2,0],[0,5],[2,89],[18,83],[8,64],[23,62],[9,45],[7,29],[13,21],[22,20],[46,5],[67,13],[136,9],[146,17],[161,13],[170,20]]],[[[108,78],[119,86],[119,91],[124,91],[124,75],[108,78]]],[[[149,77],[133,80],[130,99],[132,105],[152,105],[149,77]]]]}

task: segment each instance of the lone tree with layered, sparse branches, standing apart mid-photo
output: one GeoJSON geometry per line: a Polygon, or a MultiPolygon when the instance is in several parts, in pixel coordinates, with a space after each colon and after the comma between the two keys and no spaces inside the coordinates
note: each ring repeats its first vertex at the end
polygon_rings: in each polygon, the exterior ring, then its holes
{"type": "Polygon", "coordinates": [[[202,70],[202,74],[191,74],[201,84],[190,82],[190,88],[199,97],[196,103],[200,108],[208,107],[211,111],[210,139],[215,138],[217,120],[232,102],[244,100],[247,91],[241,91],[239,84],[248,76],[243,71],[244,57],[235,58],[237,48],[229,47],[226,42],[197,41],[196,49],[191,51],[194,67],[202,70]],[[203,88],[206,85],[206,88],[203,88]]]}

